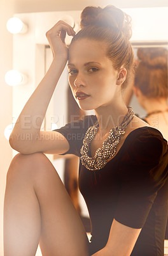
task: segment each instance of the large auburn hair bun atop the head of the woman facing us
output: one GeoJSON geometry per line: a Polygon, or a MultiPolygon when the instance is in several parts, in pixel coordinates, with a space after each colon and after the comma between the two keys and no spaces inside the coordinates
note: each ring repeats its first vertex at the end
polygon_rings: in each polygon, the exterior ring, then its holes
{"type": "Polygon", "coordinates": [[[87,26],[116,28],[128,39],[132,36],[131,18],[113,5],[105,8],[87,6],[81,13],[81,29],[87,26]]]}

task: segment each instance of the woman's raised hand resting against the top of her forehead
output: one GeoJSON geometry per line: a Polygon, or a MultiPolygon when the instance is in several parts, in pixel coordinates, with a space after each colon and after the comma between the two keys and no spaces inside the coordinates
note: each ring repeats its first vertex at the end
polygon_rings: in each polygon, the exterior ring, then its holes
{"type": "Polygon", "coordinates": [[[46,32],[46,38],[52,49],[53,58],[63,58],[67,60],[68,49],[65,43],[66,33],[74,36],[74,29],[66,22],[59,20],[50,30],[46,32]]]}

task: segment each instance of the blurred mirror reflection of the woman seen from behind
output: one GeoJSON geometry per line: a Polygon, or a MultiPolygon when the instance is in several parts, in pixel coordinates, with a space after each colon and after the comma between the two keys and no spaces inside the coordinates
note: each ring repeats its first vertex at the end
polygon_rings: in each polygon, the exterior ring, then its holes
{"type": "Polygon", "coordinates": [[[167,49],[139,48],[134,93],[146,110],[144,120],[168,140],[167,49]]]}

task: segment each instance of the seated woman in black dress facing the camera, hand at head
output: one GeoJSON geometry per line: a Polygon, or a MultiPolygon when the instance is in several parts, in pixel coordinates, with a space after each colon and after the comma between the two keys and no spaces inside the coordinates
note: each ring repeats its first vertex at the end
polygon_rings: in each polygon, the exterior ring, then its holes
{"type": "Polygon", "coordinates": [[[7,177],[4,256],[35,255],[38,243],[45,256],[163,255],[167,141],[123,101],[134,70],[129,16],[115,6],[87,7],[76,35],[59,21],[46,36],[52,65],[10,137],[20,154],[7,177]],[[66,33],[73,36],[69,49],[66,33]],[[95,116],[41,131],[67,61],[76,102],[83,110],[94,109],[95,116]],[[31,116],[27,128],[25,115],[31,116]],[[91,243],[44,153],[80,156],[79,186],[90,214],[91,243]]]}

